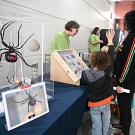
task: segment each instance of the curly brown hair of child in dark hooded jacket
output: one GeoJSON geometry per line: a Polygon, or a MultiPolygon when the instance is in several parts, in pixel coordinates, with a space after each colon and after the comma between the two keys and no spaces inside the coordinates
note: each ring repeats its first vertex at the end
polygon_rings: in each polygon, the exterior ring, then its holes
{"type": "Polygon", "coordinates": [[[98,70],[105,70],[111,65],[111,59],[108,52],[94,52],[90,59],[91,68],[96,67],[98,70]]]}

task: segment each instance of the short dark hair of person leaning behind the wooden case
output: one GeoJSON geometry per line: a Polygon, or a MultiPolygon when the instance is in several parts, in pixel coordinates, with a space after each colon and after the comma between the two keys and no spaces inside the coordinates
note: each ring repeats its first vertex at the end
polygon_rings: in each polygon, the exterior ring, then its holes
{"type": "Polygon", "coordinates": [[[80,25],[76,21],[69,21],[65,24],[65,29],[71,31],[72,28],[79,29],[80,25]]]}

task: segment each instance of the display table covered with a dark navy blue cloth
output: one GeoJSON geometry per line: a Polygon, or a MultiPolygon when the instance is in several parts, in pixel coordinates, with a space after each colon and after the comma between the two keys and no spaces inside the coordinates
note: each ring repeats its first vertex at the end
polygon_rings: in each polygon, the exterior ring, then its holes
{"type": "Polygon", "coordinates": [[[0,135],[76,135],[87,104],[87,88],[55,83],[54,90],[48,114],[11,131],[6,131],[2,117],[0,135]]]}

